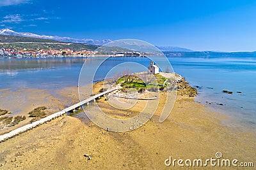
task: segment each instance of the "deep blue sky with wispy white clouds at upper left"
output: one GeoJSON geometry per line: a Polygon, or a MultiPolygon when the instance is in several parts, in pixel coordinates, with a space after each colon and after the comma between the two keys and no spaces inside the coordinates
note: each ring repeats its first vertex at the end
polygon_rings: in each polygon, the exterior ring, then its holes
{"type": "Polygon", "coordinates": [[[0,0],[0,29],[141,39],[195,51],[256,51],[256,1],[0,0]]]}

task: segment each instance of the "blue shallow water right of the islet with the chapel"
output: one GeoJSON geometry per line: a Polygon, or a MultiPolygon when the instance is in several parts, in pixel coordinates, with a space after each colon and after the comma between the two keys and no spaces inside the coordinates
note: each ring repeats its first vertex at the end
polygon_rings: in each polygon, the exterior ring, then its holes
{"type": "Polygon", "coordinates": [[[256,127],[256,59],[170,60],[177,73],[182,74],[191,85],[199,86],[196,101],[238,120],[242,126],[256,127]],[[222,90],[232,91],[233,94],[223,93],[222,90]]]}

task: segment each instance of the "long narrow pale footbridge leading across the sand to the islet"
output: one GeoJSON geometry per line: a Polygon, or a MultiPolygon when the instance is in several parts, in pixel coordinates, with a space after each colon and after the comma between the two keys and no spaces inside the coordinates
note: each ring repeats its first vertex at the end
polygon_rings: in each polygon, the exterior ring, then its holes
{"type": "Polygon", "coordinates": [[[40,120],[37,120],[36,122],[33,122],[31,124],[28,124],[28,125],[24,125],[22,127],[19,127],[18,129],[15,129],[15,130],[13,130],[11,132],[3,134],[3,135],[0,136],[0,143],[3,142],[3,141],[6,141],[9,138],[12,138],[13,136],[16,136],[16,135],[20,134],[22,132],[26,132],[26,131],[28,131],[30,129],[33,129],[33,128],[35,128],[38,125],[42,125],[45,122],[49,122],[49,121],[51,121],[54,118],[61,117],[61,115],[65,115],[69,111],[74,111],[77,108],[79,108],[80,106],[88,105],[88,103],[90,103],[92,101],[95,101],[95,99],[97,99],[97,98],[99,98],[101,96],[104,96],[105,94],[108,94],[109,92],[113,92],[115,90],[118,90],[118,89],[120,89],[120,87],[116,87],[114,89],[106,90],[105,92],[102,92],[100,94],[96,94],[95,96],[89,97],[88,99],[86,99],[84,101],[81,101],[81,102],[79,102],[77,104],[74,104],[74,105],[72,105],[72,106],[70,106],[68,108],[65,108],[64,110],[61,110],[61,111],[59,111],[57,113],[53,113],[52,115],[49,115],[48,117],[42,118],[40,120]]]}

